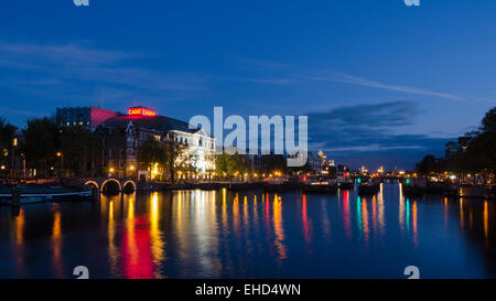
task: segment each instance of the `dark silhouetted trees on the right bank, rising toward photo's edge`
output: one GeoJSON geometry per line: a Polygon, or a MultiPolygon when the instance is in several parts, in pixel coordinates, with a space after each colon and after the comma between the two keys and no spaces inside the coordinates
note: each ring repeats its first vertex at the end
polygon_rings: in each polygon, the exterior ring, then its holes
{"type": "Polygon", "coordinates": [[[466,175],[481,173],[485,179],[496,172],[496,107],[486,112],[477,131],[468,132],[466,149],[452,159],[425,155],[416,166],[421,175],[442,172],[466,175]]]}

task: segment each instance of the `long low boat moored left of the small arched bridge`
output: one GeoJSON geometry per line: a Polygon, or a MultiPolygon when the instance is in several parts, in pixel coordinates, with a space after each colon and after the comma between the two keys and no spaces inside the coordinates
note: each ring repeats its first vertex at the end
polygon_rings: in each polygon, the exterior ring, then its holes
{"type": "MultiPolygon", "coordinates": [[[[12,203],[12,186],[0,186],[0,203],[12,203]]],[[[60,185],[19,185],[17,190],[19,193],[20,204],[78,200],[93,196],[91,190],[87,186],[67,187],[60,185]]]]}

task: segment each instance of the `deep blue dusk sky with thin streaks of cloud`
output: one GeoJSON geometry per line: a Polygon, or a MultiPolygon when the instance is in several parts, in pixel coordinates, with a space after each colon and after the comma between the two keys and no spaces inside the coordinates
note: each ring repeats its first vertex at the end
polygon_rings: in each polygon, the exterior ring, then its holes
{"type": "Polygon", "coordinates": [[[0,117],[132,105],[309,115],[312,148],[411,168],[496,105],[496,1],[6,1],[0,117]]]}

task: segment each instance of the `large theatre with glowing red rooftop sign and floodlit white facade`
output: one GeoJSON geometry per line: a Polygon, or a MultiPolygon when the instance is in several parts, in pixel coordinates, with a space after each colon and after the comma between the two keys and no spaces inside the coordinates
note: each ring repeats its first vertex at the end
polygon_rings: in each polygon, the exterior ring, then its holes
{"type": "MultiPolygon", "coordinates": [[[[96,168],[104,174],[137,180],[157,180],[157,170],[148,170],[138,162],[141,143],[149,138],[161,142],[183,144],[184,155],[194,158],[192,178],[208,178],[214,170],[215,140],[202,129],[190,129],[187,122],[159,116],[145,107],[132,107],[128,114],[116,115],[96,129],[99,141],[96,168]]],[[[181,174],[175,174],[181,178],[181,174]]]]}

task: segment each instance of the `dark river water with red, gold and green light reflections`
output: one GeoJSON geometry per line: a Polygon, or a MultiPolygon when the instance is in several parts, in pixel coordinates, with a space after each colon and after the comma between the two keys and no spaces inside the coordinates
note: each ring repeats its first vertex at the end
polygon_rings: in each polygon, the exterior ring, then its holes
{"type": "Polygon", "coordinates": [[[494,201],[176,191],[0,207],[0,278],[496,276],[494,201]]]}

